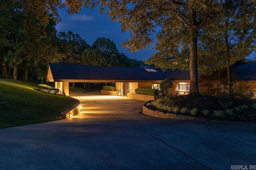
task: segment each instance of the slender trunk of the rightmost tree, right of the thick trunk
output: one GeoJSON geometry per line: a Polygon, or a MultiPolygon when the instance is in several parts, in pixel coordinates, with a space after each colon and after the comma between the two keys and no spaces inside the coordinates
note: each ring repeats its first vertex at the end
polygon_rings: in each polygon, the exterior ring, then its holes
{"type": "Polygon", "coordinates": [[[227,73],[228,73],[228,91],[229,91],[229,96],[232,97],[234,94],[234,91],[233,91],[232,74],[231,74],[231,70],[230,70],[230,51],[229,51],[229,44],[228,44],[227,36],[225,36],[225,47],[226,47],[227,73]]]}

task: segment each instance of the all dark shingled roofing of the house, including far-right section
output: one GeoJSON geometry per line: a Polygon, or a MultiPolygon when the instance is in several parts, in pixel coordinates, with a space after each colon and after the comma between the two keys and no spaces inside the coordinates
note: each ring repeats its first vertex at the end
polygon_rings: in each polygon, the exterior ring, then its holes
{"type": "MultiPolygon", "coordinates": [[[[144,68],[87,66],[74,64],[49,64],[54,80],[133,80],[130,82],[190,80],[187,70],[166,70],[154,68],[157,72],[148,72],[144,68]]],[[[234,64],[232,74],[238,80],[256,80],[256,62],[234,64]]]]}

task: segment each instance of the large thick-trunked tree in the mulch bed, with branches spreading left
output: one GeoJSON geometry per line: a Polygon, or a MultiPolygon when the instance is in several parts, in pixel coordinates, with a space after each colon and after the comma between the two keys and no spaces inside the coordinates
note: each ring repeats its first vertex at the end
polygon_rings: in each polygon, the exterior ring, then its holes
{"type": "Polygon", "coordinates": [[[218,10],[216,7],[218,2],[218,0],[85,0],[84,4],[87,8],[101,4],[101,12],[106,10],[105,7],[108,8],[107,16],[113,21],[118,21],[123,32],[130,33],[131,39],[122,44],[130,51],[151,45],[155,41],[155,34],[158,57],[171,57],[184,48],[182,45],[186,45],[190,51],[189,94],[199,95],[198,32],[205,25],[209,14],[218,10]],[[180,39],[177,40],[175,35],[180,39]]]}

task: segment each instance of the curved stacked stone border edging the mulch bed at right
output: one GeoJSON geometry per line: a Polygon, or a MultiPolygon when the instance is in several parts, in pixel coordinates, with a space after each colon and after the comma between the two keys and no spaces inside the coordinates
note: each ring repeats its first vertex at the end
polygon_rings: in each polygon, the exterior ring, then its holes
{"type": "Polygon", "coordinates": [[[160,118],[167,118],[167,119],[179,119],[179,120],[193,120],[193,121],[206,121],[206,122],[220,122],[220,123],[229,123],[229,124],[244,124],[244,125],[256,125],[256,123],[250,122],[237,122],[237,121],[224,121],[224,120],[212,120],[212,119],[205,119],[203,117],[195,117],[190,115],[182,115],[179,113],[170,113],[166,111],[160,111],[154,108],[147,106],[147,103],[152,102],[148,101],[144,104],[142,108],[142,113],[144,115],[149,115],[152,117],[160,117],[160,118]]]}

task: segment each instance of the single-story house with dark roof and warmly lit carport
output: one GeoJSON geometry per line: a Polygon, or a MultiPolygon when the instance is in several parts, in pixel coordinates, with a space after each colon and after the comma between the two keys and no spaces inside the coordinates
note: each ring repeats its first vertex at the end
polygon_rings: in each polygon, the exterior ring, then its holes
{"type": "MultiPolygon", "coordinates": [[[[244,80],[256,90],[256,62],[234,64],[232,73],[237,74],[238,80],[244,80]]],[[[55,88],[69,96],[69,82],[115,82],[116,91],[112,95],[117,95],[118,90],[121,95],[135,93],[136,88],[156,88],[159,89],[160,82],[170,79],[174,82],[173,91],[188,94],[190,90],[190,72],[187,70],[166,70],[160,68],[133,68],[133,67],[113,67],[113,66],[88,66],[74,64],[49,64],[47,82],[55,82],[55,88]]],[[[207,93],[209,87],[201,86],[199,91],[207,93]]]]}

